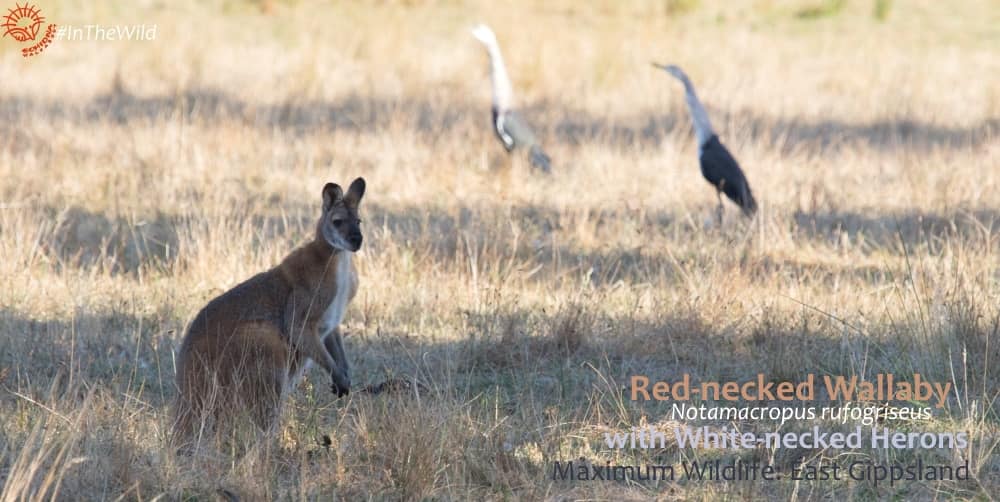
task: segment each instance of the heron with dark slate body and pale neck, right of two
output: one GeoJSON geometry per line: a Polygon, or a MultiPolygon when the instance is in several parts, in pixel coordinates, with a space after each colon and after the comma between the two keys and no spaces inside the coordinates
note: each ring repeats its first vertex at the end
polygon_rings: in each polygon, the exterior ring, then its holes
{"type": "Polygon", "coordinates": [[[757,200],[750,190],[750,183],[747,182],[746,175],[740,169],[739,163],[733,158],[733,154],[719,141],[719,135],[712,129],[712,123],[708,121],[708,113],[705,107],[698,100],[698,95],[694,91],[691,79],[677,65],[663,65],[653,63],[659,68],[680,80],[684,84],[684,97],[687,101],[688,112],[691,114],[691,122],[694,124],[695,136],[698,138],[698,160],[701,164],[701,174],[715,187],[716,197],[719,199],[719,220],[722,220],[724,211],[722,205],[722,195],[726,194],[729,200],[740,206],[743,214],[752,217],[757,212],[757,200]]]}

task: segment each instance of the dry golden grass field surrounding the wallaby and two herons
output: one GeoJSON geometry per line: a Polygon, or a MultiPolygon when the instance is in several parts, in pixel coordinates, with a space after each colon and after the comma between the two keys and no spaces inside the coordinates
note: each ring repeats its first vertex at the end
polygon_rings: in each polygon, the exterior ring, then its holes
{"type": "Polygon", "coordinates": [[[38,5],[157,38],[27,59],[0,39],[0,499],[1000,493],[995,2],[38,5]],[[489,128],[480,21],[549,177],[509,162],[489,128]],[[651,61],[691,76],[761,203],[753,222],[733,205],[714,222],[682,88],[651,61]],[[177,457],[186,323],[311,238],[323,184],[356,176],[353,380],[424,391],[336,400],[313,370],[272,447],[177,457]],[[551,479],[555,460],[734,456],[608,449],[606,431],[669,421],[668,404],[627,398],[633,374],[878,372],[952,382],[929,423],[887,425],[968,431],[968,448],[738,456],[919,454],[968,461],[973,479],[551,479]]]}

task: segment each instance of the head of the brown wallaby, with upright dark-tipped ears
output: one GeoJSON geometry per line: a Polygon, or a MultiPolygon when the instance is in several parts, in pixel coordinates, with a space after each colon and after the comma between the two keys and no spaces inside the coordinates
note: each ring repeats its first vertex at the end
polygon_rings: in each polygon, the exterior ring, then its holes
{"type": "Polygon", "coordinates": [[[351,252],[361,249],[358,205],[364,195],[364,178],[354,180],[346,194],[336,183],[327,183],[323,187],[323,216],[319,220],[319,233],[334,249],[351,252]]]}

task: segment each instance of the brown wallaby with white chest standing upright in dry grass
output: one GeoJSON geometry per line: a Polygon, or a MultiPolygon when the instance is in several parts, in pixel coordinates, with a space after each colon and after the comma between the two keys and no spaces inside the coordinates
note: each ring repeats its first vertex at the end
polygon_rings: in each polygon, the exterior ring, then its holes
{"type": "Polygon", "coordinates": [[[175,440],[206,424],[220,433],[237,416],[273,431],[310,361],[330,375],[337,397],[350,392],[340,322],[358,289],[352,257],[364,193],[362,178],[346,194],[327,183],[316,237],[198,312],[177,358],[175,440]]]}

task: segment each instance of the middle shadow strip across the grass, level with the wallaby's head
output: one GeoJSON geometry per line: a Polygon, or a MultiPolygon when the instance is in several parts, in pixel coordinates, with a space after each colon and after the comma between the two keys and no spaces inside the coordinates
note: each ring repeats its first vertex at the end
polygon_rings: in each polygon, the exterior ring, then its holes
{"type": "MultiPolygon", "coordinates": [[[[178,236],[206,231],[205,222],[189,214],[161,214],[134,222],[79,208],[40,211],[42,220],[55,222],[43,234],[41,246],[58,266],[101,266],[111,273],[134,274],[142,267],[169,270],[185,253],[178,236]]],[[[315,212],[309,204],[285,203],[270,212],[241,215],[250,221],[241,224],[247,230],[240,231],[252,233],[251,246],[279,239],[287,241],[290,252],[312,237],[315,212]]],[[[673,283],[683,280],[684,270],[729,266],[752,267],[748,270],[760,278],[791,274],[802,280],[828,281],[846,274],[885,283],[902,272],[769,256],[748,261],[739,244],[744,236],[742,227],[693,227],[689,219],[662,210],[559,211],[540,205],[445,209],[371,204],[364,212],[366,252],[377,254],[387,247],[407,249],[435,263],[467,268],[476,262],[483,273],[514,272],[532,281],[673,283]],[[574,237],[579,228],[586,229],[586,244],[574,237]],[[678,242],[685,244],[676,245],[678,242]],[[730,252],[699,251],[720,245],[730,252]]],[[[901,244],[907,252],[921,248],[930,253],[939,253],[955,241],[989,247],[1000,211],[799,212],[792,220],[794,235],[803,241],[838,246],[846,239],[861,249],[888,249],[903,256],[901,244]]]]}

